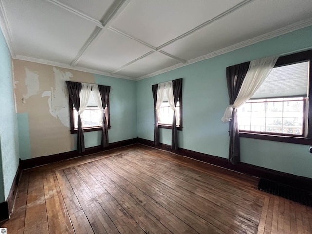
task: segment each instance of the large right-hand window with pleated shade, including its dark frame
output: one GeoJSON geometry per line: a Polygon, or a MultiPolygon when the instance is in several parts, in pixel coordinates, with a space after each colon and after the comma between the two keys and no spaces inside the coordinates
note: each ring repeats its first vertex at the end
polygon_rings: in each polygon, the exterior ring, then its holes
{"type": "Polygon", "coordinates": [[[237,109],[240,137],[312,143],[311,59],[312,51],[305,51],[277,60],[253,97],[237,109]]]}

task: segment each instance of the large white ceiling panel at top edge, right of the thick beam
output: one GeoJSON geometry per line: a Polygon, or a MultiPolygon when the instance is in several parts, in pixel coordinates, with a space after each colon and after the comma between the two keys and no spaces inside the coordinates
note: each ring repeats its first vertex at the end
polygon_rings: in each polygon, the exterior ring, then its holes
{"type": "Polygon", "coordinates": [[[154,47],[211,20],[242,0],[132,0],[112,26],[154,47]]]}

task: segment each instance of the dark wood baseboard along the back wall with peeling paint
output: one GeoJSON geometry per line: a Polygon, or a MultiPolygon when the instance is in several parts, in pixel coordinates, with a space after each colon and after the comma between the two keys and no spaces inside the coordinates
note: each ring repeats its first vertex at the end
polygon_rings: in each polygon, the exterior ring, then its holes
{"type": "Polygon", "coordinates": [[[42,165],[49,164],[49,163],[59,162],[59,161],[63,161],[63,160],[67,160],[67,159],[71,159],[75,157],[91,155],[91,154],[99,153],[102,151],[112,150],[115,148],[132,145],[136,143],[137,143],[137,138],[133,138],[133,139],[110,143],[105,148],[102,148],[101,146],[89,147],[89,148],[86,148],[86,151],[83,153],[77,153],[77,151],[75,150],[75,151],[68,151],[68,152],[63,152],[59,154],[54,154],[54,155],[30,158],[30,159],[21,161],[21,170],[38,167],[38,166],[42,166],[42,165]]]}

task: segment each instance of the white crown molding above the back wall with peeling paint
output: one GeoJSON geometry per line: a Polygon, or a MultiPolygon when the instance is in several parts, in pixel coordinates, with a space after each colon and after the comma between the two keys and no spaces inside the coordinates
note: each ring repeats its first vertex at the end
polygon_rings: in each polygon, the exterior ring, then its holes
{"type": "Polygon", "coordinates": [[[17,56],[12,57],[12,59],[19,59],[19,60],[24,60],[24,61],[28,61],[28,62],[36,62],[36,63],[45,64],[45,65],[49,65],[49,66],[61,67],[61,68],[66,68],[66,69],[71,69],[71,70],[76,70],[76,71],[81,71],[81,72],[88,72],[88,73],[104,75],[104,76],[108,76],[108,77],[128,79],[128,80],[136,80],[135,78],[132,78],[132,77],[121,76],[121,75],[112,75],[108,72],[103,72],[103,71],[84,68],[84,67],[78,67],[78,66],[72,67],[72,66],[65,64],[65,63],[53,62],[53,61],[49,61],[49,60],[45,60],[45,59],[37,59],[37,58],[33,58],[33,57],[28,57],[28,56],[17,55],[17,56]]]}

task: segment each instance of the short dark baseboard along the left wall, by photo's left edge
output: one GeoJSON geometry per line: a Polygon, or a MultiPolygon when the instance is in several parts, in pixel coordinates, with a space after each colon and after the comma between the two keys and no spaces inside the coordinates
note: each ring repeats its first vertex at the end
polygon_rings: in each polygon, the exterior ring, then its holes
{"type": "Polygon", "coordinates": [[[13,205],[15,201],[15,196],[16,196],[16,190],[20,181],[20,175],[21,175],[21,160],[19,162],[18,169],[15,173],[11,189],[8,195],[8,198],[6,199],[5,202],[0,203],[0,222],[8,219],[12,213],[13,210],[13,205]]]}

